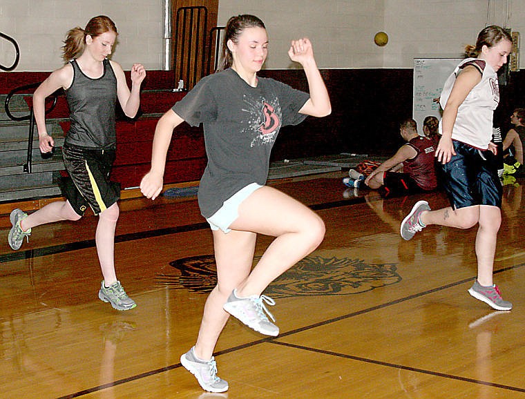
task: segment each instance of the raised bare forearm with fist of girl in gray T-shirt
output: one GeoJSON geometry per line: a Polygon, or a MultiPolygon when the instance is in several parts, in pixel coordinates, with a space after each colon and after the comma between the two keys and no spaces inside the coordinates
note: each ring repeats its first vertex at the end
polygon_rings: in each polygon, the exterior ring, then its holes
{"type": "Polygon", "coordinates": [[[300,108],[299,113],[313,117],[330,115],[332,105],[321,72],[317,68],[312,43],[307,38],[294,40],[288,50],[288,55],[292,61],[303,66],[308,81],[310,98],[300,108]]]}

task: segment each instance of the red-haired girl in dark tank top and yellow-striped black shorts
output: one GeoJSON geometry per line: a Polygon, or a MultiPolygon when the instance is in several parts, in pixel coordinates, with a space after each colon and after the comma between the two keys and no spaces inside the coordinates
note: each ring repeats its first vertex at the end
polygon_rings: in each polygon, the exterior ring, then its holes
{"type": "Polygon", "coordinates": [[[11,212],[9,245],[17,250],[29,240],[32,228],[59,220],[79,220],[87,206],[99,216],[95,242],[104,280],[99,298],[124,311],[136,306],[126,295],[115,273],[115,226],[119,217],[119,184],[110,182],[115,160],[115,104],[118,100],[128,117],[140,106],[140,86],[146,70],[131,68],[131,91],[122,67],[108,57],[117,39],[115,23],[104,15],[90,19],[86,28],[69,30],[63,46],[66,64],[55,70],[35,90],[33,108],[42,153],[53,150],[53,137],[46,130],[46,97],[59,89],[66,91],[71,126],[62,150],[70,179],[62,186],[65,202],[51,202],[28,215],[11,212]]]}

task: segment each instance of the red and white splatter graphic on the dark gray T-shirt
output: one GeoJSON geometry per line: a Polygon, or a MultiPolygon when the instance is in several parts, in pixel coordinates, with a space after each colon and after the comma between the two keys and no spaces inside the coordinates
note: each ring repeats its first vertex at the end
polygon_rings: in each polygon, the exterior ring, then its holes
{"type": "Polygon", "coordinates": [[[248,108],[244,111],[249,113],[249,129],[246,133],[252,135],[250,146],[263,146],[273,144],[281,125],[282,115],[277,98],[274,101],[266,99],[255,100],[245,97],[248,108]]]}

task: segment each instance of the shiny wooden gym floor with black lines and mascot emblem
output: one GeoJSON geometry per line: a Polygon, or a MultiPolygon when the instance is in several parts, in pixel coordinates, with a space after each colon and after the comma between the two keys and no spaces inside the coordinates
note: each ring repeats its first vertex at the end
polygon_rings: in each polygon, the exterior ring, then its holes
{"type": "Polygon", "coordinates": [[[137,302],[125,312],[97,298],[96,217],[39,226],[14,252],[3,215],[0,397],[525,398],[525,182],[504,187],[495,282],[515,307],[499,312],[467,293],[475,228],[399,236],[412,204],[445,206],[442,193],[354,196],[341,177],[272,182],[327,234],[265,291],[278,337],[229,320],[216,348],[224,394],[204,393],[179,360],[216,279],[195,198],[120,202],[117,275],[137,302]]]}

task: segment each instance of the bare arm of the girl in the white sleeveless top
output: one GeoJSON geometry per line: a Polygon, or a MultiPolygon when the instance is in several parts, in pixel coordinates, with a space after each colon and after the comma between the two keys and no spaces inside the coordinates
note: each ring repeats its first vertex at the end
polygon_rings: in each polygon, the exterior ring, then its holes
{"type": "Polygon", "coordinates": [[[475,66],[466,66],[461,71],[452,86],[452,92],[448,97],[447,104],[443,110],[442,135],[436,149],[436,157],[441,164],[450,161],[452,155],[456,155],[452,146],[452,129],[457,117],[459,106],[465,101],[470,90],[481,81],[481,74],[475,66]]]}

